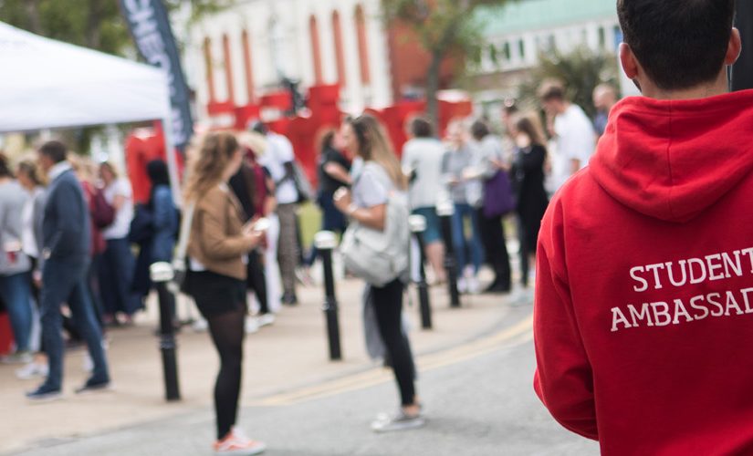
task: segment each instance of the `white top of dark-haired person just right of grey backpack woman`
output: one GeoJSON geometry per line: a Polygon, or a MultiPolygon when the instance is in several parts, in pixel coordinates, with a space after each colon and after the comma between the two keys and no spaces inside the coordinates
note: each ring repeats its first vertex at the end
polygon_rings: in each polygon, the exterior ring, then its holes
{"type": "Polygon", "coordinates": [[[443,159],[444,146],[433,138],[414,138],[403,146],[403,167],[415,170],[409,192],[411,209],[436,206],[440,193],[444,192],[443,159]]]}

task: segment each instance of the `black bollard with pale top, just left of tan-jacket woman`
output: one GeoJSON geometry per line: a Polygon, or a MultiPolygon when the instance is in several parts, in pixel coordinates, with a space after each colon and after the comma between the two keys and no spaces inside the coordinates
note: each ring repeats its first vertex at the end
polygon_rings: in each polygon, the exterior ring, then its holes
{"type": "Polygon", "coordinates": [[[181,390],[178,386],[176,357],[177,344],[175,343],[175,328],[173,327],[175,295],[168,288],[168,284],[173,280],[173,266],[169,263],[155,263],[150,267],[150,273],[160,301],[160,350],[162,351],[165,399],[168,401],[180,400],[181,390]]]}

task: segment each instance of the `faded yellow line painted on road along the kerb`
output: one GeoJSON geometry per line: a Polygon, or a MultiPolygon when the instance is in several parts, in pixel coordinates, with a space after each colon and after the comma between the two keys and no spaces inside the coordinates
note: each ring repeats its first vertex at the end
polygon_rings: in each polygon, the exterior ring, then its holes
{"type": "MultiPolygon", "coordinates": [[[[449,348],[437,353],[419,357],[416,364],[420,372],[444,368],[492,353],[500,348],[518,347],[533,339],[533,314],[530,314],[514,326],[489,337],[483,337],[460,347],[449,348]]],[[[329,380],[319,385],[276,394],[255,401],[253,405],[261,407],[279,407],[293,405],[313,399],[324,399],[345,392],[367,389],[392,380],[392,372],[386,368],[373,368],[365,372],[344,378],[329,380]]]]}

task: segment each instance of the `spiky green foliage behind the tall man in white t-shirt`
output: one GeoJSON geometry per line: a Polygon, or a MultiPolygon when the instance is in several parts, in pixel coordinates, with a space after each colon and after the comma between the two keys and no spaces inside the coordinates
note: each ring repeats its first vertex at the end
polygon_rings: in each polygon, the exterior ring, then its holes
{"type": "Polygon", "coordinates": [[[568,98],[593,116],[591,95],[593,89],[603,82],[618,86],[617,58],[614,55],[594,54],[588,47],[578,47],[570,54],[553,50],[539,55],[539,66],[533,68],[528,83],[520,88],[520,100],[524,104],[537,105],[536,91],[542,81],[557,78],[565,83],[568,98]]]}

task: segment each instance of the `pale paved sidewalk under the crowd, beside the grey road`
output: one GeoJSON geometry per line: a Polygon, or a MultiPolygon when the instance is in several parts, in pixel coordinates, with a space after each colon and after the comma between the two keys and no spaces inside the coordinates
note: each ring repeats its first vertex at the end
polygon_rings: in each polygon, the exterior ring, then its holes
{"type": "MultiPolygon", "coordinates": [[[[378,364],[365,352],[361,325],[361,281],[338,283],[340,333],[343,360],[329,361],[326,327],[319,287],[300,288],[301,304],[285,307],[274,326],[246,337],[242,405],[284,403],[296,391],[316,394],[326,386],[372,370],[378,364]]],[[[441,362],[442,350],[457,347],[498,329],[510,312],[510,297],[463,296],[463,307],[449,308],[445,287],[432,289],[434,330],[420,329],[417,299],[406,302],[413,321],[411,340],[417,355],[434,353],[441,362]]],[[[407,301],[407,300],[406,300],[407,301]]],[[[115,391],[77,397],[72,390],[86,374],[85,350],[69,352],[66,358],[65,399],[47,404],[29,404],[24,391],[38,380],[16,379],[16,367],[0,366],[0,452],[46,447],[61,440],[96,435],[145,422],[188,413],[211,411],[211,391],[218,360],[206,333],[184,328],[179,335],[178,363],[183,400],[163,399],[162,365],[158,339],[156,303],[137,318],[131,328],[112,329],[110,365],[115,391]]],[[[519,314],[519,312],[516,312],[519,314]]],[[[268,404],[267,404],[268,405],[268,404]]]]}

